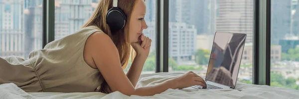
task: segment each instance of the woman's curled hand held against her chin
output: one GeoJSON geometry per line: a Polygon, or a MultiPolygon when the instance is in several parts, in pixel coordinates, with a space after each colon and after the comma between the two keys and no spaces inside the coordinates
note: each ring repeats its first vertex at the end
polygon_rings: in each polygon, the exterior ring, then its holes
{"type": "Polygon", "coordinates": [[[148,57],[149,49],[151,46],[151,39],[149,39],[149,37],[146,37],[144,36],[144,34],[142,34],[139,37],[139,42],[131,43],[131,46],[137,52],[137,55],[148,57]]]}

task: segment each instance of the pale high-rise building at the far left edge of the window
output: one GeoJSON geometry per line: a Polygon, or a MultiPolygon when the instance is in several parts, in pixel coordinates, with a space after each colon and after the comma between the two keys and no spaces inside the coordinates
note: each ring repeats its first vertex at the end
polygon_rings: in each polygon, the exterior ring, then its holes
{"type": "Polygon", "coordinates": [[[0,1],[0,56],[24,56],[24,1],[0,1]]]}

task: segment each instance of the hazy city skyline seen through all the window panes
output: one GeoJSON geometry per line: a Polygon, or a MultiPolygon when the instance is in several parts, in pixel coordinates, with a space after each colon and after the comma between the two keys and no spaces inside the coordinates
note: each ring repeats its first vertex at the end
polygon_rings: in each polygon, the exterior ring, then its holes
{"type": "MultiPolygon", "coordinates": [[[[42,1],[0,0],[0,57],[16,55],[27,59],[32,50],[42,49],[42,1]]],[[[55,40],[78,31],[91,17],[98,2],[100,0],[55,0],[55,40]]],[[[299,2],[271,2],[271,72],[281,73],[285,78],[297,77],[299,57],[291,55],[294,50],[299,50],[296,49],[299,47],[299,2]]],[[[148,29],[143,32],[152,40],[150,53],[153,54],[157,39],[156,0],[147,0],[146,6],[145,21],[148,29]]],[[[203,69],[208,65],[214,33],[240,32],[246,33],[247,38],[241,61],[243,66],[240,67],[238,78],[252,80],[253,0],[171,0],[168,19],[170,72],[192,70],[204,75],[203,69]],[[198,57],[205,62],[199,63],[198,57]],[[173,65],[176,67],[172,67],[173,65]]],[[[152,56],[145,65],[150,65],[149,70],[154,72],[154,64],[155,56],[152,56]]]]}

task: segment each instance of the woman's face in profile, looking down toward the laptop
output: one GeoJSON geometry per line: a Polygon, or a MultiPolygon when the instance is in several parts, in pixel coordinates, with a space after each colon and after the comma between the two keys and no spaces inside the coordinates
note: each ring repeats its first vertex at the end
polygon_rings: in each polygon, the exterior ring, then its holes
{"type": "Polygon", "coordinates": [[[142,31],[148,28],[148,25],[145,21],[146,15],[146,3],[144,0],[137,0],[133,8],[133,12],[130,20],[130,42],[138,42],[139,36],[142,34],[142,31]]]}

